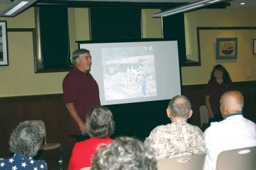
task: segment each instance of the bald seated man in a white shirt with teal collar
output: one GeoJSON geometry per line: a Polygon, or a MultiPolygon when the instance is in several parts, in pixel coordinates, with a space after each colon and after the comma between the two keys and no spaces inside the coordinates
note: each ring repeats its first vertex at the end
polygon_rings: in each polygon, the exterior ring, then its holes
{"type": "Polygon", "coordinates": [[[239,91],[227,91],[221,96],[220,111],[224,120],[212,122],[204,132],[205,170],[216,169],[221,151],[256,146],[256,125],[243,117],[243,105],[243,95],[239,91]]]}

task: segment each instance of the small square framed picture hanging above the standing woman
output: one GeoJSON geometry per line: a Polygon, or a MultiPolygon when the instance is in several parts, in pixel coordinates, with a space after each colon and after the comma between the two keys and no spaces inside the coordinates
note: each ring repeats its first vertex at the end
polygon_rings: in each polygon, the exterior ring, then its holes
{"type": "Polygon", "coordinates": [[[216,59],[236,59],[237,38],[216,38],[216,59]]]}

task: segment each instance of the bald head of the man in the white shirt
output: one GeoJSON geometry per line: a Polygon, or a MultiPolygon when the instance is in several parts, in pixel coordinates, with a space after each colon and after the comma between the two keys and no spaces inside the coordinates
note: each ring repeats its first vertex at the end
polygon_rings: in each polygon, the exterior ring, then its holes
{"type": "Polygon", "coordinates": [[[242,112],[244,98],[239,91],[227,91],[221,96],[220,104],[221,114],[227,116],[228,114],[242,112]]]}

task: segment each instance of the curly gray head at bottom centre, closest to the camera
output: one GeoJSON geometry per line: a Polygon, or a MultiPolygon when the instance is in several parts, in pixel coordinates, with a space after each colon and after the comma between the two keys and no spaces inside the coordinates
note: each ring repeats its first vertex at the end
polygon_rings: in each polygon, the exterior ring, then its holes
{"type": "Polygon", "coordinates": [[[92,158],[91,170],[156,170],[157,160],[143,143],[131,137],[118,137],[101,146],[92,158]]]}

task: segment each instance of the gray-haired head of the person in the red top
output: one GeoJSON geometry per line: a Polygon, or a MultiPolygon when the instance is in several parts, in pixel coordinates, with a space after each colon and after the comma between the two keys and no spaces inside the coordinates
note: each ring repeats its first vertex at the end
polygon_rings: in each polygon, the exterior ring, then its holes
{"type": "Polygon", "coordinates": [[[105,138],[114,133],[112,112],[102,105],[90,109],[86,115],[86,133],[90,137],[105,138]]]}

